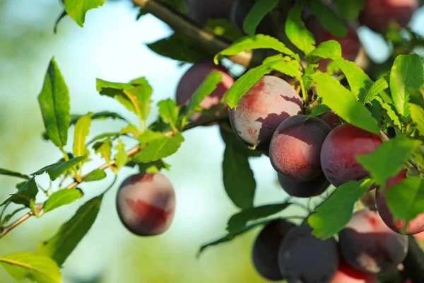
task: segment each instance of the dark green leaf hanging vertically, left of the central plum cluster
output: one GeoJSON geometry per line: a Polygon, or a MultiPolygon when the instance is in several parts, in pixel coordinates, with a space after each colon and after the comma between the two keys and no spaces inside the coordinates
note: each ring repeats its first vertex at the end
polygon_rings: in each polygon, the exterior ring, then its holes
{"type": "Polygon", "coordinates": [[[230,200],[241,209],[253,206],[256,181],[249,158],[235,143],[227,144],[223,160],[223,182],[230,200]]]}

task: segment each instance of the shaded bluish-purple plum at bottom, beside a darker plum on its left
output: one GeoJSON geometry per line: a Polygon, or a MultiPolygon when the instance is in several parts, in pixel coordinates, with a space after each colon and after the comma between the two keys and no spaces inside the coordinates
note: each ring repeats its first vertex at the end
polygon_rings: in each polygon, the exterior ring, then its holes
{"type": "Polygon", "coordinates": [[[310,226],[291,229],[278,250],[278,266],[288,283],[330,282],[337,265],[334,238],[316,238],[310,226]]]}

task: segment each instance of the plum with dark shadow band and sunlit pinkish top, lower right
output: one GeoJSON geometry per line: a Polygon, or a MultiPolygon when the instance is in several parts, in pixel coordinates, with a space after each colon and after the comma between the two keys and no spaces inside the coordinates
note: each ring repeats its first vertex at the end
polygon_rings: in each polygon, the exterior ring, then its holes
{"type": "Polygon", "coordinates": [[[394,270],[408,251],[408,237],[391,231],[378,212],[362,209],[338,233],[343,258],[373,274],[394,270]]]}

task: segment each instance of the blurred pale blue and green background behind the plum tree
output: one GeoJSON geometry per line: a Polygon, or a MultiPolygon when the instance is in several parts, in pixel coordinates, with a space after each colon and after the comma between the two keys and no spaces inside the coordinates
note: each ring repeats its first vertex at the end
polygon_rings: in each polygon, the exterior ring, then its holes
{"type": "MultiPolygon", "coordinates": [[[[95,91],[95,78],[126,82],[146,76],[153,86],[155,104],[173,98],[179,78],[190,65],[160,57],[146,47],[172,34],[172,30],[151,15],[136,21],[138,10],[129,1],[108,1],[89,11],[84,28],[71,18],[53,26],[63,10],[59,0],[0,0],[0,168],[31,173],[61,158],[58,149],[41,138],[44,129],[37,103],[47,64],[56,57],[71,93],[71,112],[110,110],[136,120],[119,103],[95,91]]],[[[424,36],[424,10],[420,9],[411,27],[424,36]]],[[[367,53],[377,62],[387,58],[390,47],[379,35],[360,28],[367,53]]],[[[121,129],[122,122],[93,122],[90,137],[121,129]]],[[[69,132],[72,137],[73,128],[69,132]]],[[[225,195],[222,182],[224,144],[218,127],[201,127],[184,133],[186,141],[169,158],[171,171],[164,172],[175,186],[177,212],[167,233],[151,238],[132,235],[120,223],[114,206],[117,186],[105,195],[98,219],[63,269],[65,283],[139,282],[265,282],[252,267],[250,252],[258,230],[231,243],[207,249],[199,260],[201,244],[225,233],[228,218],[237,212],[225,195]]],[[[69,142],[69,149],[71,148],[69,142]]],[[[93,158],[88,167],[100,165],[93,158]]],[[[287,196],[276,183],[268,158],[252,158],[257,179],[255,204],[281,202],[287,196]]],[[[120,180],[134,173],[124,168],[120,180]]],[[[109,173],[109,175],[112,175],[109,173]]],[[[100,194],[112,176],[98,183],[81,185],[85,197],[30,219],[0,241],[0,255],[15,251],[36,251],[76,209],[100,194]]],[[[47,178],[37,178],[46,183],[47,178]]],[[[0,197],[13,192],[14,178],[0,176],[0,197]]],[[[242,187],[240,187],[242,190],[242,187]]],[[[41,195],[41,194],[40,194],[41,195]]],[[[285,216],[302,215],[288,209],[285,216]]],[[[0,268],[0,283],[15,282],[0,268]]]]}

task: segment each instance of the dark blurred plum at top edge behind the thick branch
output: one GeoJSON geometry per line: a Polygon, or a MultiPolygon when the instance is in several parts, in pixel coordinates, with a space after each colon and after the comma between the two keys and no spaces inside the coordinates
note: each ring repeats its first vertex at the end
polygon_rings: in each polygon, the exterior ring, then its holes
{"type": "Polygon", "coordinates": [[[209,19],[230,19],[231,6],[234,0],[186,0],[189,18],[204,25],[209,19]]]}

